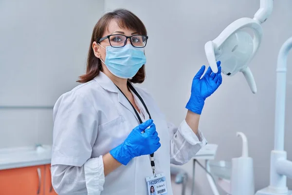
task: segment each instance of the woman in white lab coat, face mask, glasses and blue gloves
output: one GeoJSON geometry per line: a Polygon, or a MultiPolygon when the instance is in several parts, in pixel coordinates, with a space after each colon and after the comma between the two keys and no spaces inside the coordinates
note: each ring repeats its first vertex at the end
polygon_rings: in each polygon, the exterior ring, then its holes
{"type": "Polygon", "coordinates": [[[146,177],[160,174],[172,195],[170,163],[188,162],[206,144],[198,124],[204,100],[221,84],[220,64],[202,78],[201,67],[186,118],[175,127],[148,92],[132,85],[145,79],[147,39],[142,21],[125,9],[96,23],[83,84],[54,107],[52,182],[59,195],[146,195],[146,177]]]}

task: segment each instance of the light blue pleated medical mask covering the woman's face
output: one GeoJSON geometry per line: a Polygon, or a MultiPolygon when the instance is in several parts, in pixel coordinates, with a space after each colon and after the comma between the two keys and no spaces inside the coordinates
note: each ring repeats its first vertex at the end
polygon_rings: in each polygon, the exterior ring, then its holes
{"type": "MultiPolygon", "coordinates": [[[[99,44],[100,45],[100,44],[99,44]]],[[[101,45],[100,45],[101,46],[101,45]]],[[[104,48],[103,46],[101,46],[104,48]]],[[[107,46],[106,59],[102,62],[107,66],[111,74],[119,78],[133,78],[138,70],[146,63],[144,48],[136,48],[131,44],[124,47],[107,46]]]]}

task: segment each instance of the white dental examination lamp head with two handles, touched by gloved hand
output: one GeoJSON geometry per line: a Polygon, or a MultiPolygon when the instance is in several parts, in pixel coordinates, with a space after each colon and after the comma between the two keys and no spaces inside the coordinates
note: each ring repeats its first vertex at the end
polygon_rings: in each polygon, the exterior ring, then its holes
{"type": "Polygon", "coordinates": [[[273,10],[273,0],[260,0],[260,8],[253,19],[241,18],[227,26],[220,35],[206,42],[205,53],[214,73],[218,72],[216,61],[221,61],[224,75],[233,76],[242,72],[250,89],[256,93],[256,82],[248,67],[262,39],[261,24],[267,20],[273,10]],[[245,29],[253,31],[254,37],[245,29]]]}

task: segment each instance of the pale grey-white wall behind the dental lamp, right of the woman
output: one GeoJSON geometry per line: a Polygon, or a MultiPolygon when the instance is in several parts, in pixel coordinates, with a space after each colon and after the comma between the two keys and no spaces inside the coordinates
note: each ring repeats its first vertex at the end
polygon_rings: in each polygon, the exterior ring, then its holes
{"type": "MultiPolygon", "coordinates": [[[[179,125],[186,114],[191,80],[207,64],[204,44],[231,22],[253,17],[259,0],[106,0],[106,11],[127,8],[146,25],[147,79],[168,119],[179,125]]],[[[246,134],[255,161],[256,189],[269,183],[270,151],[274,144],[275,67],[282,43],[292,36],[292,1],[274,1],[274,11],[263,24],[261,47],[250,64],[257,84],[253,95],[241,74],[223,77],[219,90],[207,99],[200,128],[210,143],[219,144],[218,160],[231,160],[241,152],[236,132],[246,134]]],[[[292,53],[292,52],[291,52],[292,53]]],[[[292,64],[292,54],[288,59],[292,64]]],[[[285,149],[292,159],[292,67],[288,67],[285,149]],[[289,120],[290,119],[290,120],[289,120]]],[[[197,195],[210,195],[205,175],[197,166],[197,195]]],[[[191,175],[192,163],[183,166],[191,175]]],[[[292,188],[291,180],[288,182],[292,188]]],[[[175,189],[179,194],[179,190],[175,189]]],[[[189,194],[189,191],[187,192],[189,194]]]]}

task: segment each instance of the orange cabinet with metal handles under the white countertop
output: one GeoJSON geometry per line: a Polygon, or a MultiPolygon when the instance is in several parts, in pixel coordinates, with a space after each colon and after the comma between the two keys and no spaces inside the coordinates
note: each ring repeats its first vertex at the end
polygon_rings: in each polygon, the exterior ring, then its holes
{"type": "Polygon", "coordinates": [[[50,164],[0,170],[0,195],[57,195],[50,164]]]}

